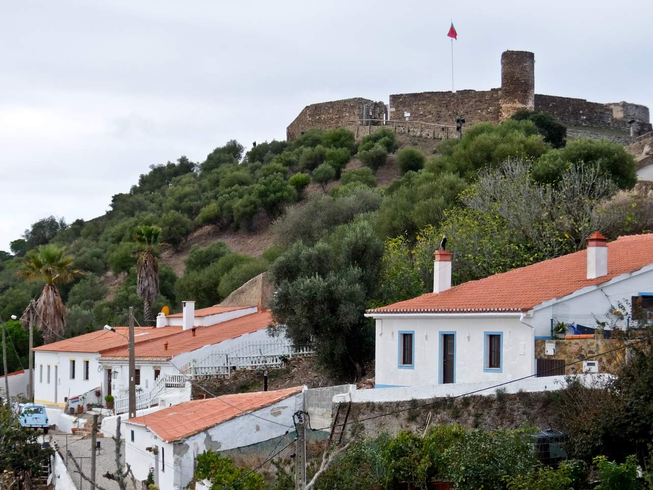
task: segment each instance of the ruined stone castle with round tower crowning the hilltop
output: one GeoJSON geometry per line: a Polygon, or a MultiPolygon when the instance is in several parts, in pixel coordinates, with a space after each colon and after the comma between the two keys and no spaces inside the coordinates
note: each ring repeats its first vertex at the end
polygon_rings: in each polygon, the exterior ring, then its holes
{"type": "MultiPolygon", "coordinates": [[[[361,124],[379,124],[370,120],[414,121],[454,125],[464,116],[466,125],[498,123],[521,109],[541,110],[555,116],[574,135],[629,139],[628,122],[634,120],[634,135],[653,128],[648,108],[627,102],[596,103],[585,99],[535,93],[535,55],[528,51],[505,51],[501,56],[501,87],[490,90],[430,91],[390,95],[389,106],[357,97],[306,106],[287,128],[292,140],[311,127],[324,129],[347,126],[347,120],[361,124]],[[387,114],[387,116],[386,116],[387,114]],[[594,129],[610,130],[614,134],[594,129]]],[[[365,134],[362,131],[361,134],[365,134]]]]}

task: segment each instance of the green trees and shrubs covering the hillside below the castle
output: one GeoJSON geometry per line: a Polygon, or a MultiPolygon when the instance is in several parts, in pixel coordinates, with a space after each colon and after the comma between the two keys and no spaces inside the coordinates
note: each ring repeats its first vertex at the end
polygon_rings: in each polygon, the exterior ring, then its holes
{"type": "Polygon", "coordinates": [[[200,163],[153,165],[128,193],[114,195],[104,216],[44,218],[10,253],[0,252],[0,316],[20,315],[39,297],[44,282],[17,272],[26,253],[51,244],[83,272],[57,284],[63,336],[124,324],[129,306],[144,324],[135,232],[155,226],[163,246],[151,244],[159,281],[153,312],[182,299],[215,304],[270,270],[279,287],[273,313],[293,340],[319,345],[319,361],[332,372],[362,376],[373,352],[365,308],[428,291],[443,234],[459,283],[579,250],[596,229],[614,238],[652,226],[651,200],[627,192],[636,177],[624,148],[581,139],[553,148],[559,127],[520,118],[475,125],[430,155],[400,150],[389,129],[357,142],[340,128],[247,153],[231,140],[200,163]],[[379,186],[389,155],[401,177],[379,186]],[[247,255],[206,238],[208,229],[264,234],[270,246],[247,255]],[[200,235],[201,244],[186,244],[200,235]]]}

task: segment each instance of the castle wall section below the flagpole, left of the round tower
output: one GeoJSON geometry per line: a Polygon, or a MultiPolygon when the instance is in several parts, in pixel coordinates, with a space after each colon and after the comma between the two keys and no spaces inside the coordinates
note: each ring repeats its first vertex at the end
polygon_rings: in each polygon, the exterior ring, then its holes
{"type": "Polygon", "coordinates": [[[464,116],[466,126],[479,122],[499,122],[500,90],[456,92],[396,93],[390,95],[390,120],[422,121],[455,125],[458,116],[464,116]]]}

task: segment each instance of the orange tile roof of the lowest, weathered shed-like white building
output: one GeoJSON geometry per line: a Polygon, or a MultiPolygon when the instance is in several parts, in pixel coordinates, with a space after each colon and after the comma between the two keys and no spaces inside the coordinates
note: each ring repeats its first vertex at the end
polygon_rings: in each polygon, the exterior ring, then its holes
{"type": "Polygon", "coordinates": [[[191,400],[164,408],[150,415],[129,419],[127,423],[147,427],[159,438],[171,442],[200,433],[204,429],[235,417],[261,410],[261,408],[300,393],[302,388],[302,386],[296,386],[276,391],[236,393],[206,400],[191,400]]]}

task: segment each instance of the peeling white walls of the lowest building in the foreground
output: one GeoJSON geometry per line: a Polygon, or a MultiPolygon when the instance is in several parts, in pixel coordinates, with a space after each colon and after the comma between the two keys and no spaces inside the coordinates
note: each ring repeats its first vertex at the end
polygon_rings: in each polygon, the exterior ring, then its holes
{"type": "Polygon", "coordinates": [[[161,466],[161,449],[159,449],[159,455],[157,455],[159,458],[159,472],[155,478],[158,478],[159,488],[161,490],[181,490],[193,478],[193,468],[197,455],[204,453],[207,449],[224,451],[225,449],[249,446],[250,444],[281,436],[287,430],[293,430],[293,414],[297,410],[302,410],[303,406],[304,393],[302,392],[252,412],[262,419],[242,414],[185,440],[177,441],[174,443],[174,448],[172,444],[163,442],[149,429],[133,425],[127,421],[124,425],[125,440],[127,441],[125,455],[127,461],[132,465],[136,478],[145,480],[149,468],[157,464],[155,463],[155,456],[146,451],[145,448],[148,446],[164,448],[165,471],[162,471],[161,466]],[[135,437],[133,443],[131,443],[130,432],[132,430],[135,437]]]}

